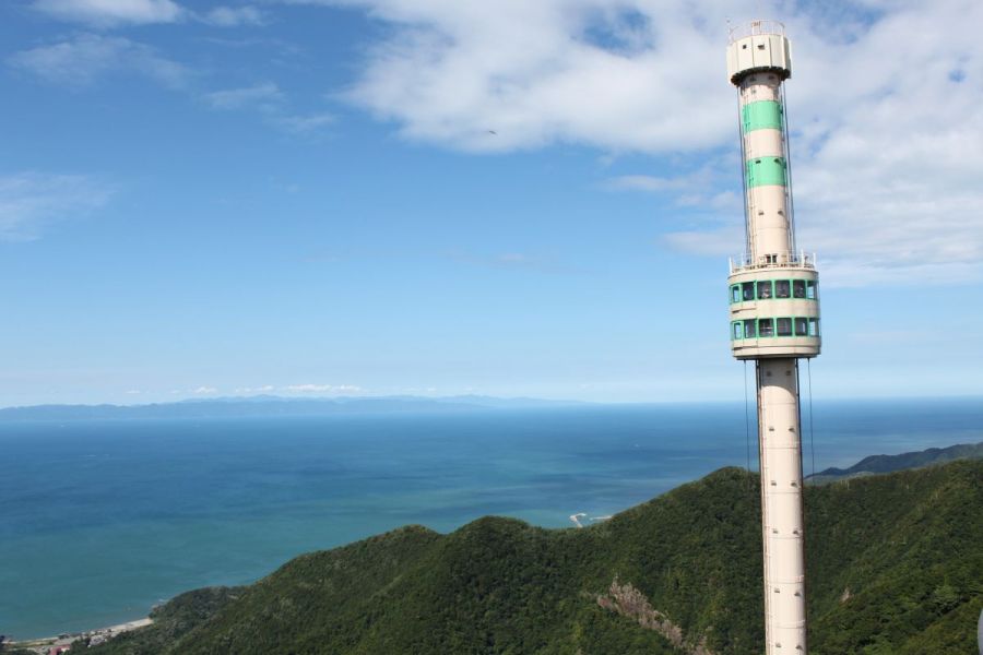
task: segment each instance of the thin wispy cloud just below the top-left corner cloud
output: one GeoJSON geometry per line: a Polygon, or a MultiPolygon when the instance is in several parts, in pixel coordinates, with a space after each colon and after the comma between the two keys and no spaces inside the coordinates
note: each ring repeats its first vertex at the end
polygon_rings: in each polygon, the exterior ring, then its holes
{"type": "Polygon", "coordinates": [[[103,75],[126,73],[179,88],[189,76],[181,64],[161,57],[150,46],[98,34],[81,34],[51,46],[22,50],[8,62],[47,82],[70,87],[88,86],[103,75]]]}

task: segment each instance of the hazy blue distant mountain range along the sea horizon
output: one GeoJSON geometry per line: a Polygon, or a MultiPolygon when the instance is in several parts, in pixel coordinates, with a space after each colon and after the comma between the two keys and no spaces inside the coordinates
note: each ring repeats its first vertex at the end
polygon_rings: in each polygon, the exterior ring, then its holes
{"type": "Polygon", "coordinates": [[[33,405],[0,409],[3,420],[79,420],[108,418],[234,418],[264,416],[323,416],[393,412],[466,412],[587,405],[576,401],[497,398],[481,395],[448,397],[344,396],[294,398],[274,395],[187,400],[150,405],[33,405]]]}

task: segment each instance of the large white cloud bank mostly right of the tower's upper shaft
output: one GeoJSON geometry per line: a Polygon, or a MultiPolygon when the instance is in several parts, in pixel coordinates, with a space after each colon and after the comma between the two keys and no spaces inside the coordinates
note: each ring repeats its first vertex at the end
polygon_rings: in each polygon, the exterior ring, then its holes
{"type": "MultiPolygon", "coordinates": [[[[983,281],[981,21],[983,5],[952,1],[892,8],[842,43],[790,26],[797,236],[827,286],[983,281]]],[[[737,254],[730,223],[667,242],[737,254]]]]}

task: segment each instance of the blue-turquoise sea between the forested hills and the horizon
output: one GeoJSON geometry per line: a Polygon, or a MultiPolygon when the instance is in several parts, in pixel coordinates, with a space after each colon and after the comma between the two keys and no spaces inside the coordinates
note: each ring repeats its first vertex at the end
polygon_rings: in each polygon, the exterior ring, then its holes
{"type": "MultiPolygon", "coordinates": [[[[981,441],[983,403],[824,404],[815,424],[821,469],[981,441]]],[[[407,523],[570,526],[746,462],[743,405],[5,422],[0,448],[0,633],[19,639],[407,523]]]]}

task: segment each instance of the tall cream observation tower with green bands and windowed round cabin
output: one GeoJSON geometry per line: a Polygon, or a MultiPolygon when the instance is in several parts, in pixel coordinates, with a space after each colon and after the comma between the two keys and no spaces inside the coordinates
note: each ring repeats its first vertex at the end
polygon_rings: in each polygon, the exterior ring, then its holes
{"type": "Polygon", "coordinates": [[[727,76],[737,87],[746,228],[727,277],[731,348],[757,371],[766,652],[805,653],[798,360],[819,354],[819,288],[815,257],[795,241],[784,26],[755,21],[732,29],[727,76]]]}

